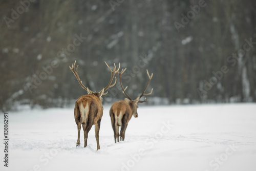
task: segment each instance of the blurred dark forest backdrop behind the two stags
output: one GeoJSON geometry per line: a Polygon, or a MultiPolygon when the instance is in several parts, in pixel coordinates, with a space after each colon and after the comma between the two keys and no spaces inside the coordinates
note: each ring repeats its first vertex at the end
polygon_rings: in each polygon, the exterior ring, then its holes
{"type": "MultiPolygon", "coordinates": [[[[0,1],[0,109],[65,107],[127,68],[132,98],[154,73],[147,104],[256,101],[254,0],[0,1]]],[[[117,79],[118,79],[118,75],[117,79]]],[[[117,84],[104,103],[123,99],[117,84]]]]}

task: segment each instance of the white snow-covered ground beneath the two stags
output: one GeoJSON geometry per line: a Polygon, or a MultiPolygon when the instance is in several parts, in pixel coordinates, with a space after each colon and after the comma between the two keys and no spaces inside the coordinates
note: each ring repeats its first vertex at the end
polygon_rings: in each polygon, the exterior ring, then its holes
{"type": "Polygon", "coordinates": [[[256,170],[256,104],[140,107],[116,144],[109,109],[97,152],[94,126],[76,149],[73,109],[9,113],[9,167],[1,143],[0,170],[256,170]]]}

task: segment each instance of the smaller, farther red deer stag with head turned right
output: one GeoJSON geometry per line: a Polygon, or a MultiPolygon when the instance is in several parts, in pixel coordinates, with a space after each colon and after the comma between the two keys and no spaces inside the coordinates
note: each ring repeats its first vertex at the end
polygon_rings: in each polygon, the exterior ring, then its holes
{"type": "Polygon", "coordinates": [[[115,143],[116,143],[116,140],[119,142],[119,135],[120,135],[120,141],[124,140],[125,130],[128,122],[132,118],[132,115],[135,118],[138,117],[138,113],[137,113],[138,103],[143,103],[147,101],[146,98],[143,101],[141,101],[140,98],[143,96],[151,95],[153,92],[153,89],[152,89],[150,93],[145,94],[148,84],[150,84],[150,81],[153,77],[153,73],[150,76],[150,74],[148,74],[148,71],[146,70],[146,73],[148,76],[148,82],[146,84],[146,88],[144,89],[144,91],[140,96],[138,96],[135,100],[132,100],[132,98],[129,95],[127,95],[127,93],[125,92],[127,87],[123,89],[123,85],[121,81],[122,74],[124,73],[125,70],[126,68],[122,69],[122,71],[118,72],[118,74],[119,74],[120,86],[127,98],[124,98],[124,100],[121,100],[121,101],[114,102],[110,108],[110,117],[111,117],[111,123],[114,131],[115,143]],[[120,134],[119,134],[119,126],[121,126],[120,134]]]}

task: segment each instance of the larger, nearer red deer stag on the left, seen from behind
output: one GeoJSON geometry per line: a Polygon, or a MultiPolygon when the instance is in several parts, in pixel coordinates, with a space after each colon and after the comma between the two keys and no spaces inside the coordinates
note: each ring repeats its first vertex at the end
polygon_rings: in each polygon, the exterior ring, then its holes
{"type": "MultiPolygon", "coordinates": [[[[106,63],[106,62],[105,62],[106,63]]],[[[111,79],[105,88],[103,88],[99,93],[91,91],[89,88],[85,87],[82,84],[82,81],[79,78],[78,75],[78,65],[75,71],[75,65],[76,61],[72,64],[72,67],[69,67],[71,71],[74,73],[76,79],[80,83],[81,87],[88,92],[88,95],[83,95],[75,102],[75,109],[74,109],[74,115],[75,115],[75,121],[77,124],[77,130],[78,130],[78,137],[76,146],[80,146],[80,130],[81,125],[83,128],[83,136],[84,136],[84,147],[87,146],[87,138],[88,133],[91,130],[92,125],[95,125],[95,138],[97,141],[97,150],[100,149],[99,146],[99,129],[100,129],[100,121],[101,117],[103,115],[103,106],[102,106],[102,95],[107,94],[108,92],[104,93],[104,91],[108,90],[109,88],[112,88],[116,84],[115,82],[111,85],[113,78],[115,74],[119,71],[119,68],[116,69],[116,65],[114,63],[114,69],[113,71],[110,69],[108,64],[106,63],[106,66],[108,66],[110,72],[111,72],[111,79]]]]}

